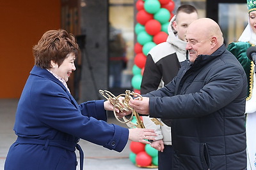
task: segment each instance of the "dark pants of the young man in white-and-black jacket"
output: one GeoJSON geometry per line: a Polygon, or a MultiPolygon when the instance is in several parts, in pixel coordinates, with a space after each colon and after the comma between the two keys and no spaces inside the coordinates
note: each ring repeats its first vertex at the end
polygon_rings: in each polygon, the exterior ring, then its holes
{"type": "Polygon", "coordinates": [[[158,152],[158,169],[172,169],[173,148],[172,145],[164,145],[164,152],[158,152]]]}

